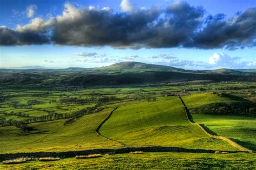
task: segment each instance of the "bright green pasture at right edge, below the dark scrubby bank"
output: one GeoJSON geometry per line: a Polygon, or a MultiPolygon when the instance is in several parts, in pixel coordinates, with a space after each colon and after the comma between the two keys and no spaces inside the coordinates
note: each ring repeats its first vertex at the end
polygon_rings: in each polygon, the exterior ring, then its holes
{"type": "Polygon", "coordinates": [[[256,151],[256,116],[192,114],[192,117],[212,132],[256,151]]]}

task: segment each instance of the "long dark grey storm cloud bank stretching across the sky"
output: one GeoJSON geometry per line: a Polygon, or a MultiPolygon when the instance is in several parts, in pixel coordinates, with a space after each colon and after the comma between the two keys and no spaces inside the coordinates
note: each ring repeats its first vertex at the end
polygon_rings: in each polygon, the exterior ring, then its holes
{"type": "Polygon", "coordinates": [[[202,6],[186,2],[176,2],[165,9],[138,9],[131,4],[126,7],[122,6],[125,12],[114,12],[110,8],[76,8],[66,3],[62,16],[35,18],[16,30],[1,27],[0,43],[230,50],[256,45],[255,8],[226,19],[223,14],[205,17],[202,6]],[[50,40],[45,30],[50,30],[50,40]]]}

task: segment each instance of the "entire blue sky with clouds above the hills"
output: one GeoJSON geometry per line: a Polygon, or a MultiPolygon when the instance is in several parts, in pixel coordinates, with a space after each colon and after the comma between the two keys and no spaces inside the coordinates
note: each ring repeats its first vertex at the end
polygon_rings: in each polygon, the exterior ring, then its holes
{"type": "Polygon", "coordinates": [[[256,68],[256,2],[0,0],[0,67],[256,68]]]}

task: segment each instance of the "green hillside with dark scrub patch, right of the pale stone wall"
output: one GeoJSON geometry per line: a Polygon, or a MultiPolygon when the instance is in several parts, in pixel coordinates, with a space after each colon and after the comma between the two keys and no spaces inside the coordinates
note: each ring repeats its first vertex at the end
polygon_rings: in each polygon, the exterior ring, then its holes
{"type": "Polygon", "coordinates": [[[214,134],[231,138],[238,144],[256,151],[256,128],[254,126],[256,114],[245,112],[245,110],[255,108],[254,103],[219,93],[194,94],[183,97],[183,99],[195,122],[203,124],[214,134]],[[231,105],[233,110],[237,112],[227,111],[223,108],[225,106],[218,108],[218,103],[225,103],[226,106],[231,105]],[[210,110],[215,111],[209,112],[210,110]]]}

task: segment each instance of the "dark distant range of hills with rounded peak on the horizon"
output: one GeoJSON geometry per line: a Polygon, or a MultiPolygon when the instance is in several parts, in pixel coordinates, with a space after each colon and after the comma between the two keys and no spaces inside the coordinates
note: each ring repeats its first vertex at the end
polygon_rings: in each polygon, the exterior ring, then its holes
{"type": "MultiPolygon", "coordinates": [[[[38,67],[37,67],[38,68],[38,67]]],[[[42,67],[39,67],[42,68],[42,67]]],[[[0,83],[40,84],[44,86],[130,86],[143,84],[171,83],[180,81],[256,81],[255,73],[230,69],[191,71],[176,67],[122,62],[106,67],[84,69],[0,69],[0,83]],[[26,69],[26,70],[25,70],[26,69]]]]}

